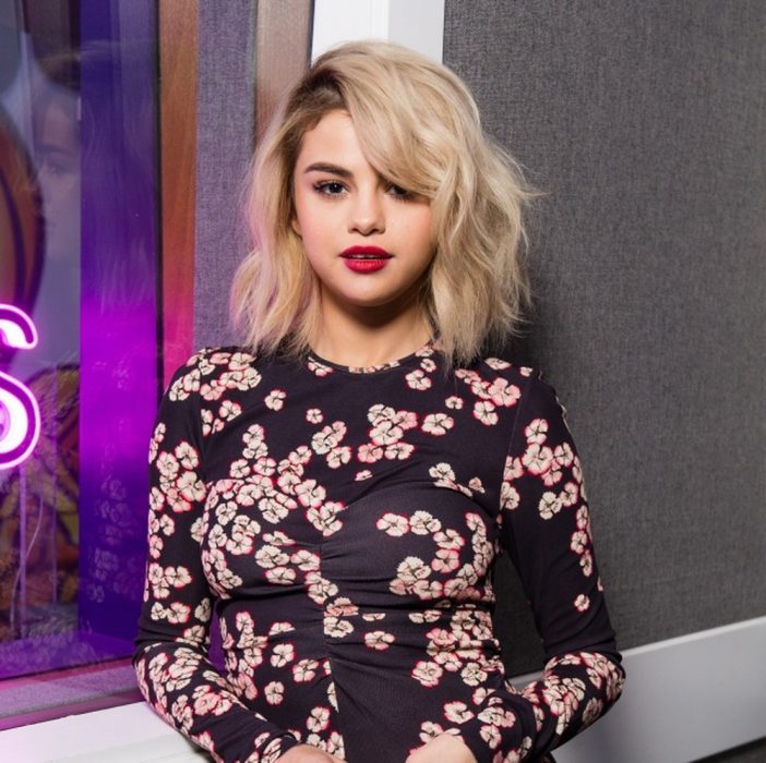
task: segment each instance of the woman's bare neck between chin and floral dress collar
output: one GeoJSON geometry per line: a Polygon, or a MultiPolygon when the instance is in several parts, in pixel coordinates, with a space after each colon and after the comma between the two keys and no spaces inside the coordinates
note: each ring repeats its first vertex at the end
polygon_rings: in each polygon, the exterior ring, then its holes
{"type": "Polygon", "coordinates": [[[393,316],[375,310],[337,310],[323,301],[312,350],[333,363],[352,367],[382,365],[419,350],[431,331],[416,302],[393,316]]]}

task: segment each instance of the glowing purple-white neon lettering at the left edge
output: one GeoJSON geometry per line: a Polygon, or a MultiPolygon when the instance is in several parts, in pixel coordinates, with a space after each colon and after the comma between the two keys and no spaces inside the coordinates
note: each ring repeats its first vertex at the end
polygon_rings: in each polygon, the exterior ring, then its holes
{"type": "MultiPolygon", "coordinates": [[[[37,329],[19,307],[0,304],[0,342],[17,350],[37,344],[37,329]]],[[[0,469],[24,461],[40,437],[40,410],[32,391],[0,372],[0,469]]]]}

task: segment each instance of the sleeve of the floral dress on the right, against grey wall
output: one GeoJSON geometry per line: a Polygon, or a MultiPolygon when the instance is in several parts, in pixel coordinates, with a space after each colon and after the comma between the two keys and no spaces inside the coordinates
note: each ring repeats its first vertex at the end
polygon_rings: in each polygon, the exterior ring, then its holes
{"type": "Polygon", "coordinates": [[[552,388],[530,375],[501,491],[501,542],[532,607],[546,665],[488,693],[460,735],[478,761],[538,760],[602,715],[624,681],[594,557],[582,470],[552,388]]]}

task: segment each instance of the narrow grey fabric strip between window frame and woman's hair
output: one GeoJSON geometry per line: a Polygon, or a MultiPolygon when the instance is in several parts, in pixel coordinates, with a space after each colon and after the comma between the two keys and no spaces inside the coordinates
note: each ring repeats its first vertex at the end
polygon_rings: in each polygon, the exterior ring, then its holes
{"type": "Polygon", "coordinates": [[[234,341],[229,287],[247,251],[240,192],[252,153],[253,0],[200,3],[194,341],[234,341]]]}

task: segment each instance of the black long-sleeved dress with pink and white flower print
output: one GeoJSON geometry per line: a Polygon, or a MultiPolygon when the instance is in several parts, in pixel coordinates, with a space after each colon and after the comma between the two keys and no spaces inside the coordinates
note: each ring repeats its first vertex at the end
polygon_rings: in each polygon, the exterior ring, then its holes
{"type": "Polygon", "coordinates": [[[480,763],[535,760],[620,694],[579,460],[530,368],[205,350],[165,395],[151,472],[139,682],[216,760],[404,763],[445,731],[480,763]],[[547,656],[520,691],[492,632],[502,549],[547,656]]]}

